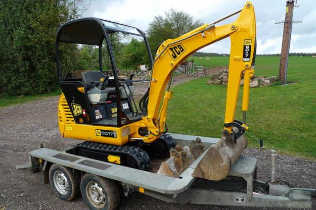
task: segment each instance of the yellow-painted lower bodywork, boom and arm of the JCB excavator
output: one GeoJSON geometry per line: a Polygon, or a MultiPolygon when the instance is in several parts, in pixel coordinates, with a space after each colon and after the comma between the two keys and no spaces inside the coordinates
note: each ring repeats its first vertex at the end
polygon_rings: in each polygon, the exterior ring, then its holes
{"type": "MultiPolygon", "coordinates": [[[[252,59],[256,38],[256,22],[253,5],[250,2],[245,4],[236,21],[226,25],[216,25],[210,27],[208,24],[202,25],[187,34],[174,39],[164,41],[157,50],[150,81],[148,115],[140,121],[130,123],[129,134],[126,135],[126,127],[121,128],[103,125],[84,125],[75,124],[71,115],[67,101],[62,94],[59,100],[58,116],[59,130],[62,136],[88,141],[102,142],[115,145],[127,143],[129,138],[143,138],[144,142],[150,143],[158,139],[164,131],[166,113],[169,99],[172,98],[172,91],[167,90],[166,86],[171,78],[173,70],[191,56],[195,51],[217,42],[224,38],[230,38],[231,51],[229,60],[229,80],[227,86],[227,101],[225,107],[225,123],[233,122],[236,113],[240,81],[242,73],[245,72],[244,93],[242,110],[248,110],[249,82],[253,75],[252,59]],[[187,38],[189,37],[190,38],[187,38]],[[186,39],[187,38],[187,39],[186,39]],[[244,47],[250,48],[250,60],[243,61],[244,47]],[[172,50],[171,50],[172,47],[172,50]],[[172,56],[173,55],[173,56],[172,56]],[[160,104],[162,104],[160,108],[160,104]],[[70,115],[69,115],[70,113],[70,115]],[[65,129],[71,125],[72,130],[65,129]],[[158,126],[159,125],[159,126],[158,126]],[[140,136],[138,129],[146,127],[149,135],[140,136]],[[104,137],[98,135],[97,130],[115,131],[117,138],[104,137]],[[122,132],[123,130],[123,132],[122,132]],[[124,136],[122,136],[122,134],[124,136]]],[[[72,107],[73,108],[73,107],[72,107]]],[[[112,113],[117,112],[117,108],[112,108],[112,113]]],[[[74,114],[82,113],[81,107],[75,107],[74,114]]],[[[112,117],[117,114],[112,115],[112,117]]],[[[246,127],[246,125],[243,125],[246,127]]],[[[225,128],[231,130],[232,128],[225,128]]]]}

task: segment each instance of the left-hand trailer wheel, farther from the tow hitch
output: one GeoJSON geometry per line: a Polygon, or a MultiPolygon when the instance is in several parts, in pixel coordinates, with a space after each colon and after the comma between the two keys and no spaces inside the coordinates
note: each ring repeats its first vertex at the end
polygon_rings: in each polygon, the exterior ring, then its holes
{"type": "Polygon", "coordinates": [[[50,168],[51,186],[62,200],[71,201],[79,194],[79,181],[79,175],[67,167],[53,164],[50,168]]]}

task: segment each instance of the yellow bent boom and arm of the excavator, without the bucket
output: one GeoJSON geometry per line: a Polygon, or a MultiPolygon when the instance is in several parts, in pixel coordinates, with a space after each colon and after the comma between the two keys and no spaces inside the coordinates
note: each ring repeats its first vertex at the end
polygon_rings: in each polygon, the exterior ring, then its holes
{"type": "Polygon", "coordinates": [[[255,14],[251,2],[247,2],[243,9],[218,21],[202,25],[187,34],[168,39],[160,44],[155,55],[150,81],[148,103],[146,104],[147,116],[143,117],[138,124],[138,127],[148,129],[148,135],[144,138],[136,132],[132,137],[142,137],[147,143],[159,138],[164,132],[168,100],[172,97],[170,83],[173,70],[195,51],[227,37],[231,39],[231,51],[224,129],[232,132],[235,139],[243,134],[247,129],[246,112],[248,111],[249,84],[250,77],[254,73],[256,50],[255,14]],[[215,26],[215,24],[236,14],[239,14],[239,17],[235,22],[215,26]],[[244,74],[244,86],[243,120],[241,122],[235,120],[235,112],[242,74],[244,74]],[[233,127],[237,129],[233,130],[233,127]],[[234,133],[236,130],[238,132],[234,133]]]}

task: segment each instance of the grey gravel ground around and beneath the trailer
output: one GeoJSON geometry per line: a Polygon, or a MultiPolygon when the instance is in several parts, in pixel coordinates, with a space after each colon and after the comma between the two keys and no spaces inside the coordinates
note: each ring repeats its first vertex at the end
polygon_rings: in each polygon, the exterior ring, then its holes
{"type": "MultiPolygon", "coordinates": [[[[59,200],[50,185],[44,185],[41,173],[16,170],[28,160],[27,153],[45,143],[52,149],[64,149],[77,143],[61,138],[57,126],[58,97],[49,97],[0,109],[0,209],[87,209],[81,197],[72,202],[59,200]]],[[[172,131],[171,131],[172,132],[172,131]]],[[[269,153],[246,149],[246,155],[258,159],[258,178],[269,175],[269,153]]],[[[316,188],[316,163],[292,156],[278,158],[278,177],[292,185],[316,188]]],[[[120,209],[254,209],[165,203],[133,193],[123,198],[120,209]]],[[[263,208],[264,209],[264,208],[263,208]]],[[[313,209],[316,209],[315,202],[313,209]]]]}

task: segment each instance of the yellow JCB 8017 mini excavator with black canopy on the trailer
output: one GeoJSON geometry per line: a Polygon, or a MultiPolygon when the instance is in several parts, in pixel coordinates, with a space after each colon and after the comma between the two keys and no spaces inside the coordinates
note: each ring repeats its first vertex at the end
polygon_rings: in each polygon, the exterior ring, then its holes
{"type": "Polygon", "coordinates": [[[223,179],[247,146],[243,134],[248,129],[249,83],[256,51],[256,22],[251,2],[230,16],[165,40],[157,47],[154,59],[145,33],[140,29],[97,18],[62,25],[56,37],[57,70],[63,91],[58,106],[59,130],[65,138],[84,140],[71,152],[141,170],[148,170],[150,156],[168,156],[175,147],[172,137],[166,134],[173,72],[197,50],[227,37],[231,40],[231,51],[222,139],[208,150],[193,174],[211,180],[223,179]],[[239,16],[235,22],[217,26],[236,14],[239,16]],[[144,68],[147,70],[149,66],[152,74],[148,90],[139,100],[133,96],[134,83],[146,80],[133,80],[133,75],[128,79],[119,77],[116,65],[119,59],[112,43],[118,33],[142,39],[148,51],[149,64],[144,68]],[[64,42],[98,48],[98,71],[82,71],[79,77],[65,74],[67,67],[61,61],[64,42]],[[103,68],[104,51],[111,64],[107,71],[103,68]],[[239,121],[235,120],[235,112],[242,77],[243,119],[239,121]]]}

